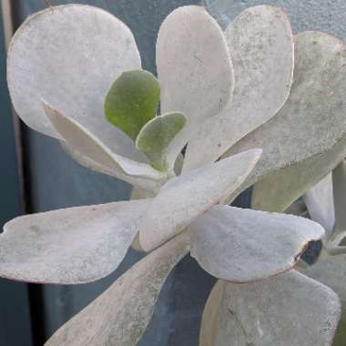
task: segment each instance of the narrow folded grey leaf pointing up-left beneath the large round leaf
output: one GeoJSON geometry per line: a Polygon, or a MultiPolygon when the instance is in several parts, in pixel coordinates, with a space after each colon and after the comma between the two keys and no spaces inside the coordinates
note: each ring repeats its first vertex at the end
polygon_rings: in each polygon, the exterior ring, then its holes
{"type": "Polygon", "coordinates": [[[130,183],[132,183],[132,180],[127,176],[158,180],[165,178],[162,173],[147,163],[133,161],[113,153],[72,117],[66,117],[45,102],[44,108],[47,117],[49,117],[58,134],[66,140],[68,146],[97,162],[102,167],[110,169],[118,178],[123,178],[130,183]]]}

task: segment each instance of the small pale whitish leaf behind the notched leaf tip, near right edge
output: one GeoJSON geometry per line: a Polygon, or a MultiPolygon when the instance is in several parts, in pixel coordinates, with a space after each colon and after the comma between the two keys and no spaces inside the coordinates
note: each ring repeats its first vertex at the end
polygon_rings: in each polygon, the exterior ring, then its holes
{"type": "Polygon", "coordinates": [[[313,188],[304,194],[310,218],[320,223],[328,234],[334,228],[334,201],[332,196],[331,173],[322,178],[313,188]]]}

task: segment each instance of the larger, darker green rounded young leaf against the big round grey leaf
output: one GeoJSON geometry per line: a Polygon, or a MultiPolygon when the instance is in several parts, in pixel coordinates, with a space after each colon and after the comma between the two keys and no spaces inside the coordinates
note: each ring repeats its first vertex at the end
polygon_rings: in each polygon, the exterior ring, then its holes
{"type": "Polygon", "coordinates": [[[159,93],[158,79],[150,72],[123,72],[107,91],[105,116],[136,140],[140,129],[156,116],[159,93]]]}

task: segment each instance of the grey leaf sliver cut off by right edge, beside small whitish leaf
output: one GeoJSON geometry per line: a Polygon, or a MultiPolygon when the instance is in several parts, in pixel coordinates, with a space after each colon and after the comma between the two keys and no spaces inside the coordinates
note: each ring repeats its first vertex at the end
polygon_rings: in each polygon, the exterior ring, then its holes
{"type": "Polygon", "coordinates": [[[332,171],[332,192],[335,209],[335,228],[346,230],[346,162],[341,163],[332,171]]]}

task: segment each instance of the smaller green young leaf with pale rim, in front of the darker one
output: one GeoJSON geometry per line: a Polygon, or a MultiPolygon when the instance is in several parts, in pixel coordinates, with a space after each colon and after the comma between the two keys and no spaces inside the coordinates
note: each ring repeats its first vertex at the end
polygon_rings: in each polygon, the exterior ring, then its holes
{"type": "Polygon", "coordinates": [[[186,121],[182,113],[168,113],[154,117],[140,130],[136,147],[147,155],[154,168],[167,170],[173,166],[174,162],[168,162],[167,148],[186,121]]]}

